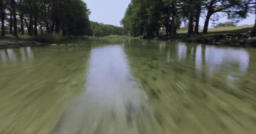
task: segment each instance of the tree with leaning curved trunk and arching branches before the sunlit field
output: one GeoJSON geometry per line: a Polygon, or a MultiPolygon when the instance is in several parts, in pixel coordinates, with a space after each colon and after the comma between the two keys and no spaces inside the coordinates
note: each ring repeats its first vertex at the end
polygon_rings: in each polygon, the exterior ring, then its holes
{"type": "Polygon", "coordinates": [[[248,9],[244,5],[242,0],[206,0],[205,8],[207,15],[205,18],[205,24],[203,33],[208,33],[208,26],[210,18],[215,13],[226,13],[229,19],[245,18],[248,9]]]}

